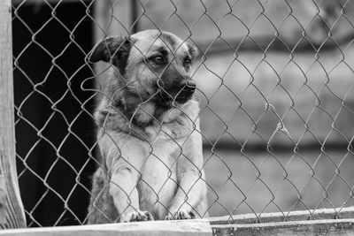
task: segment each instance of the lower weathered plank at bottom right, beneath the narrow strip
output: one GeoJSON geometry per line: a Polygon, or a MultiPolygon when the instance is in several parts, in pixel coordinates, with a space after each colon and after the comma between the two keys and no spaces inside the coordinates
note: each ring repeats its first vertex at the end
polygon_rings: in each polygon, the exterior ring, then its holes
{"type": "Polygon", "coordinates": [[[354,219],[212,225],[216,235],[353,235],[354,219]]]}

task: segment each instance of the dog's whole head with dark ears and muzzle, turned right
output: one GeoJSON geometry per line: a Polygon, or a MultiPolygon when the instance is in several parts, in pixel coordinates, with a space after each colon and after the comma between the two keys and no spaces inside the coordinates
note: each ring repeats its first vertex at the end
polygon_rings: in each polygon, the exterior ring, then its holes
{"type": "Polygon", "coordinates": [[[174,34],[146,30],[98,42],[89,61],[111,63],[119,74],[119,87],[131,96],[138,95],[141,102],[170,107],[173,102],[186,103],[196,90],[190,77],[196,51],[174,34]]]}

